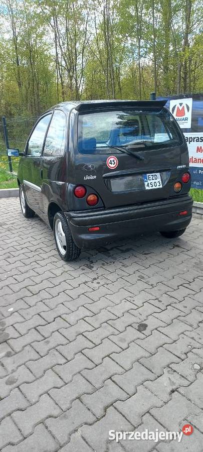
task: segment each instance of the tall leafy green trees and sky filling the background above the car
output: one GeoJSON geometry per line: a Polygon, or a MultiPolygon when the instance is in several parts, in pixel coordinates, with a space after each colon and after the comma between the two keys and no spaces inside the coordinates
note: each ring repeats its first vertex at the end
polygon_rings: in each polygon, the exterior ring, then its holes
{"type": "Polygon", "coordinates": [[[203,89],[197,0],[2,0],[0,115],[203,89]]]}

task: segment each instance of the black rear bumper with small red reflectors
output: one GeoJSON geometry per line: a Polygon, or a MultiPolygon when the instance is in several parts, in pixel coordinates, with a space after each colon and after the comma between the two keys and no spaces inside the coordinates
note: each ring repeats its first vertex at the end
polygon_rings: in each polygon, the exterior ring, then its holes
{"type": "Polygon", "coordinates": [[[191,221],[192,203],[189,195],[183,195],[140,205],[64,213],[75,244],[84,249],[143,233],[186,228],[191,221]],[[179,215],[184,210],[188,213],[179,215]],[[100,230],[89,232],[91,227],[100,230]]]}

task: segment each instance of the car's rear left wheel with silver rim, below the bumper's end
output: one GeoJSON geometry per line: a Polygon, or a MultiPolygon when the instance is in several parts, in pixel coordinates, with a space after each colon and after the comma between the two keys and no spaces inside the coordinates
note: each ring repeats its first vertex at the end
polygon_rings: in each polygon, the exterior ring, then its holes
{"type": "Polygon", "coordinates": [[[80,256],[80,249],[73,241],[73,237],[64,213],[57,212],[54,215],[53,229],[57,250],[61,259],[66,262],[78,259],[80,256]]]}

